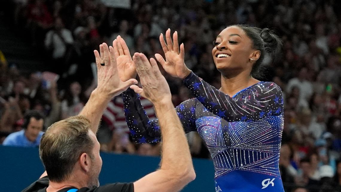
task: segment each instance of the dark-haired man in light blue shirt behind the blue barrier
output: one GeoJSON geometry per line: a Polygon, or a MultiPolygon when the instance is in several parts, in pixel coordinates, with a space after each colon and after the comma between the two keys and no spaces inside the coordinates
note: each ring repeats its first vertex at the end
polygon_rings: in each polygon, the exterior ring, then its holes
{"type": "Polygon", "coordinates": [[[38,111],[29,111],[24,117],[23,130],[10,134],[4,141],[5,146],[38,147],[44,132],[44,116],[38,111]]]}

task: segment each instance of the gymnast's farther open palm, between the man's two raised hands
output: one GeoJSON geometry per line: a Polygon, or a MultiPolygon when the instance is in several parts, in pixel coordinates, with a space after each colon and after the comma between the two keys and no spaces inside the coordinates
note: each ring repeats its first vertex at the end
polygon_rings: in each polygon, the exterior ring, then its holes
{"type": "Polygon", "coordinates": [[[113,41],[113,47],[116,56],[118,75],[121,81],[136,78],[136,69],[129,49],[121,36],[113,41]]]}

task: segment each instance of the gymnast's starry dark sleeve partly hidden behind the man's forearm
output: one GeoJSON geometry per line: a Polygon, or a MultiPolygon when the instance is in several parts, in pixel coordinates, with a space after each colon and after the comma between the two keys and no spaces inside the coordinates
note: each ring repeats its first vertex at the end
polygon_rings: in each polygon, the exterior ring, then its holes
{"type": "MultiPolygon", "coordinates": [[[[127,91],[123,92],[123,104],[125,121],[136,143],[150,143],[161,140],[159,121],[157,119],[149,120],[146,111],[141,105],[138,94],[128,88],[127,91]]],[[[186,133],[196,130],[195,106],[196,99],[189,99],[176,107],[179,119],[186,133]]]]}

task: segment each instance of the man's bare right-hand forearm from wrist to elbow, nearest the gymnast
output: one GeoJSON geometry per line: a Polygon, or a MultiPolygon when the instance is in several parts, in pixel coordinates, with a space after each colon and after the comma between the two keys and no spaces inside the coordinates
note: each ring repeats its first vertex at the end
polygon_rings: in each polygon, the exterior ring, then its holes
{"type": "Polygon", "coordinates": [[[154,107],[162,135],[161,169],[189,182],[195,178],[191,153],[172,101],[155,102],[154,107]]]}

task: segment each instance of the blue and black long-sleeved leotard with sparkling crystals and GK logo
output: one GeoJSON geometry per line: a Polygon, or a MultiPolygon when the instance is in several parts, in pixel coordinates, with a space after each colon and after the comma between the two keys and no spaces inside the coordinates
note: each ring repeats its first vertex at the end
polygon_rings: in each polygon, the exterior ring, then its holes
{"type": "MultiPolygon", "coordinates": [[[[273,82],[259,82],[233,97],[191,73],[183,83],[196,98],[176,111],[186,133],[205,140],[215,168],[216,192],[283,192],[279,155],[283,97],[273,82]]],[[[124,112],[137,143],[160,141],[158,121],[150,121],[132,90],[123,93],[124,112]]]]}

